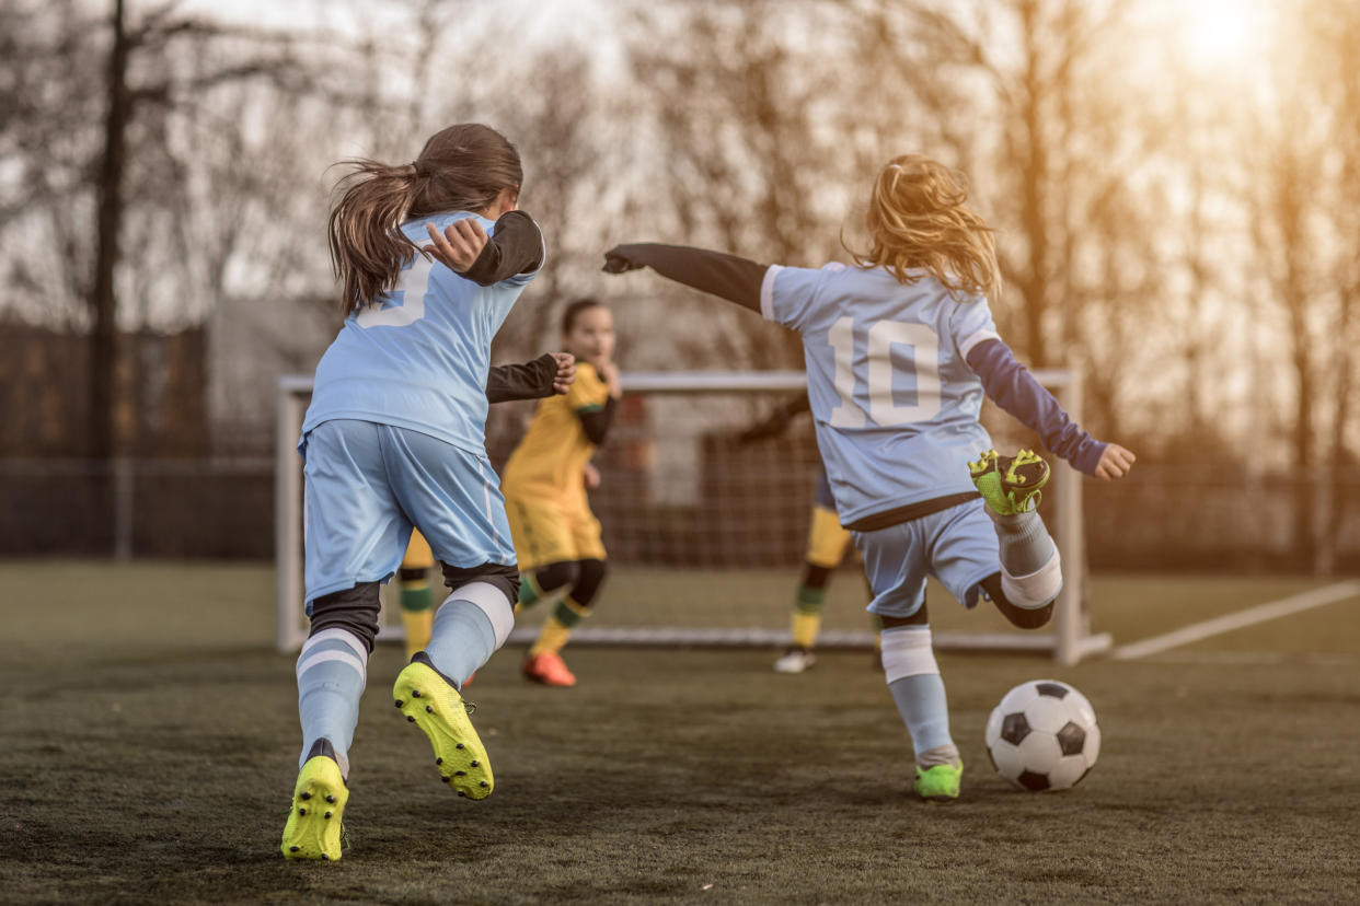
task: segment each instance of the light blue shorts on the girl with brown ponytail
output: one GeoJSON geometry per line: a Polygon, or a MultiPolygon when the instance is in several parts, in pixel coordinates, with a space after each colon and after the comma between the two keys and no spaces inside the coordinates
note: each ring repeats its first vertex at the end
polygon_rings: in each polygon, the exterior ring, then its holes
{"type": "Polygon", "coordinates": [[[324,421],[303,439],[306,600],[388,581],[412,526],[450,566],[514,565],[500,479],[486,456],[408,428],[324,421]]]}

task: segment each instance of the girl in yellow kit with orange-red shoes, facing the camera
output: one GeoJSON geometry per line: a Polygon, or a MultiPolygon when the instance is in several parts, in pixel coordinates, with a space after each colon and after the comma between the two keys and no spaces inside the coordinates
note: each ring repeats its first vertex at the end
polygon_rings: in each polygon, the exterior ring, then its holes
{"type": "Polygon", "coordinates": [[[539,403],[500,482],[520,560],[520,607],[563,595],[524,662],[525,678],[548,686],[577,683],[560,651],[604,583],[600,520],[590,512],[586,479],[623,397],[613,315],[604,304],[579,299],[567,306],[562,341],[577,357],[577,380],[566,395],[539,403]]]}

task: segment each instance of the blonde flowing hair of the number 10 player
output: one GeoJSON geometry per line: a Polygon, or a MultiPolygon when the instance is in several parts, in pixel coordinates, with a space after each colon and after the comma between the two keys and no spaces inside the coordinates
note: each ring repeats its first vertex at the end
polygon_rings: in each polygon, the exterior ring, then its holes
{"type": "Polygon", "coordinates": [[[921,155],[894,158],[873,183],[869,251],[846,250],[861,268],[884,268],[902,284],[921,278],[913,270],[925,270],[955,299],[994,299],[1001,272],[993,231],[964,206],[967,200],[962,173],[921,155]]]}

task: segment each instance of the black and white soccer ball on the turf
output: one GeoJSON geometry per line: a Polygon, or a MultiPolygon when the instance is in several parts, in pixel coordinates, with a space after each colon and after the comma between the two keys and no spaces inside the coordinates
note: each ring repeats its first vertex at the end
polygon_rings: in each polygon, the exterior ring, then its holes
{"type": "Polygon", "coordinates": [[[1100,754],[1100,727],[1087,697],[1057,679],[1034,679],[1005,694],[987,719],[987,755],[1020,789],[1068,789],[1100,754]]]}

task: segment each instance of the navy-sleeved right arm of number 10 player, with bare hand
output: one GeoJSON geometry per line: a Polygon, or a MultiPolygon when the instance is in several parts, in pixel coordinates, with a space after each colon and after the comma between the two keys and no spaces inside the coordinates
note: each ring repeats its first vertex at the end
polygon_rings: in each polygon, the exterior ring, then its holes
{"type": "Polygon", "coordinates": [[[1083,431],[1001,340],[983,340],[970,349],[968,367],[982,379],[989,399],[1039,435],[1044,447],[1077,471],[1110,479],[1122,478],[1133,467],[1132,452],[1083,431]]]}

